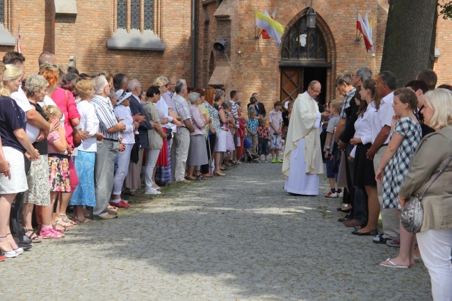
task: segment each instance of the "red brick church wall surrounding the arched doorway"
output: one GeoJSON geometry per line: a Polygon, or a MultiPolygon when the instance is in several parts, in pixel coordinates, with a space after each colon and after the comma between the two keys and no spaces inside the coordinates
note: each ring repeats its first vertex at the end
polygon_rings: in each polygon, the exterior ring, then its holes
{"type": "MultiPolygon", "coordinates": [[[[281,47],[273,39],[255,40],[255,18],[254,11],[272,13],[277,6],[276,19],[287,30],[302,15],[305,15],[305,1],[289,0],[261,0],[261,1],[239,1],[224,0],[232,3],[236,10],[233,14],[231,26],[232,41],[229,43],[232,63],[231,79],[226,85],[226,95],[230,90],[241,92],[241,100],[248,102],[252,92],[259,92],[261,99],[265,101],[267,110],[273,109],[273,102],[280,99],[280,56],[281,47]],[[239,56],[237,51],[241,51],[239,56]],[[238,69],[235,68],[238,66],[238,69]]],[[[205,76],[208,70],[208,61],[212,45],[216,36],[216,1],[198,1],[198,24],[202,32],[200,33],[199,53],[197,64],[199,83],[207,84],[209,78],[205,76]],[[202,3],[204,3],[204,13],[209,15],[209,23],[204,24],[202,3]],[[206,4],[207,3],[207,4],[206,4]]],[[[357,67],[367,66],[373,70],[374,74],[380,71],[382,47],[385,40],[385,29],[387,19],[387,1],[337,1],[337,0],[316,0],[314,9],[318,13],[318,27],[323,27],[325,42],[330,43],[330,54],[328,62],[332,64],[328,70],[328,85],[326,87],[327,99],[341,98],[334,88],[334,79],[343,72],[353,72],[357,67]],[[373,42],[375,48],[375,58],[371,52],[367,53],[364,47],[364,40],[356,43],[356,15],[360,13],[364,17],[369,13],[369,19],[373,18],[373,42]]],[[[284,35],[286,34],[284,32],[284,35]]],[[[442,51],[442,56],[437,59],[435,71],[439,76],[439,83],[452,83],[452,72],[449,65],[452,63],[452,26],[451,21],[439,19],[437,29],[437,48],[442,51]]],[[[283,36],[284,38],[284,36],[283,36]]],[[[216,54],[218,58],[224,55],[216,54]]]]}

